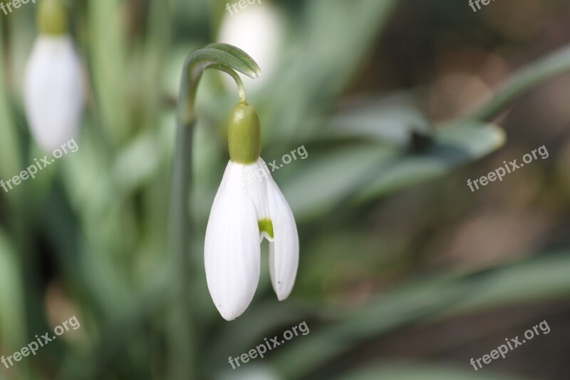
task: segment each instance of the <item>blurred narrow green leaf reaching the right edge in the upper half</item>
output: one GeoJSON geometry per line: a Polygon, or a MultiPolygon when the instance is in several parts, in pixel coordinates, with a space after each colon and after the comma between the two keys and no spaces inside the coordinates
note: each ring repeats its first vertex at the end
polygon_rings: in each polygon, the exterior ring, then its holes
{"type": "Polygon", "coordinates": [[[485,101],[469,113],[467,118],[482,121],[490,120],[522,93],[567,71],[570,71],[570,46],[561,48],[522,68],[499,88],[489,101],[485,101]]]}

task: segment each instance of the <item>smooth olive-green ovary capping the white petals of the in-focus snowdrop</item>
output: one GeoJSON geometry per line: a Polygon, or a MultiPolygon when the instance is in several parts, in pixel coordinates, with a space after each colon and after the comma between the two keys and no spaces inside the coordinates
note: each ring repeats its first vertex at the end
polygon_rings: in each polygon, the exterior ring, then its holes
{"type": "Polygon", "coordinates": [[[254,107],[242,101],[232,110],[228,128],[229,158],[234,163],[251,164],[261,153],[261,126],[254,107]]]}

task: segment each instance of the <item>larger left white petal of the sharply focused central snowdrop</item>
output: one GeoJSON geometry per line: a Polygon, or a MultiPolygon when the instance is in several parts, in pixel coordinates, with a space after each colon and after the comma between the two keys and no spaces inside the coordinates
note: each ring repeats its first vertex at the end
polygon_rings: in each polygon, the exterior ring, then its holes
{"type": "Polygon", "coordinates": [[[204,243],[209,293],[228,321],[247,309],[259,282],[259,229],[243,176],[244,165],[228,163],[204,243]]]}

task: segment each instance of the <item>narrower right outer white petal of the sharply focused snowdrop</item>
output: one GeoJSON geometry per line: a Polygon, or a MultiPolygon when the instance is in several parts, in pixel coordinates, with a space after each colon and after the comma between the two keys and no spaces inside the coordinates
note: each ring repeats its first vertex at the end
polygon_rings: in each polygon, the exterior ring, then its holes
{"type": "Polygon", "coordinates": [[[289,203],[269,176],[267,181],[269,212],[273,222],[274,242],[269,243],[269,273],[279,301],[293,289],[299,265],[299,235],[289,203]]]}

